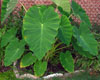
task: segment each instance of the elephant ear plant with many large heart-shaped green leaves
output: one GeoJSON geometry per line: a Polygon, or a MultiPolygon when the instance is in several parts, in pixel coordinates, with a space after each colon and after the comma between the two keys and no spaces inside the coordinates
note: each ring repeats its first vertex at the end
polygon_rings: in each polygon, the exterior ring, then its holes
{"type": "Polygon", "coordinates": [[[62,67],[72,73],[74,72],[74,59],[71,50],[68,50],[70,46],[87,58],[93,58],[98,54],[98,45],[90,31],[89,18],[81,6],[74,0],[71,4],[69,0],[53,0],[53,2],[56,4],[56,8],[62,8],[61,16],[53,6],[32,6],[23,19],[20,34],[22,37],[19,38],[16,35],[17,28],[7,30],[2,36],[1,44],[5,48],[5,66],[21,59],[21,68],[32,65],[35,76],[42,76],[47,70],[50,58],[54,57],[55,53],[60,53],[59,60],[62,67]],[[71,9],[72,12],[70,12],[71,9]],[[70,16],[65,13],[74,14],[80,18],[80,27],[72,25],[70,16]],[[64,48],[65,51],[62,50],[64,48]]]}

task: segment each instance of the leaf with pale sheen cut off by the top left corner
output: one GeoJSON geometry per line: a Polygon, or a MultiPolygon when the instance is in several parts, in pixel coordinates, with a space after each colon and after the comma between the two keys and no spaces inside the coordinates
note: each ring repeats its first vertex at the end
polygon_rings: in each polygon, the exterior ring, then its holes
{"type": "Polygon", "coordinates": [[[9,14],[16,7],[18,0],[3,0],[1,8],[1,23],[9,16],[9,14]]]}

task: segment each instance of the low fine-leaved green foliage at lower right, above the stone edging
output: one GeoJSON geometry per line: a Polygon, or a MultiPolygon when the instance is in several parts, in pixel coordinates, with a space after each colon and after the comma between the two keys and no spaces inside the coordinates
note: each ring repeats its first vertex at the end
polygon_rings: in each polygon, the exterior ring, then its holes
{"type": "MultiPolygon", "coordinates": [[[[98,55],[99,56],[99,55],[98,55]]],[[[94,71],[100,71],[100,58],[94,57],[93,59],[80,57],[77,59],[76,66],[80,69],[93,69],[94,71]]]]}

